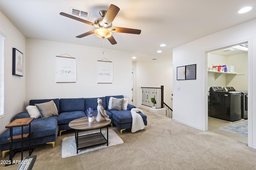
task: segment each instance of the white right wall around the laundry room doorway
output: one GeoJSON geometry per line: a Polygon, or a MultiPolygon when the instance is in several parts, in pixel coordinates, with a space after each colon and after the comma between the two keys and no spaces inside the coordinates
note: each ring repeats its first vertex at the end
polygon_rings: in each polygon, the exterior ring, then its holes
{"type": "Polygon", "coordinates": [[[206,52],[248,41],[248,146],[256,148],[256,20],[186,43],[173,49],[173,119],[206,131],[207,121],[207,57],[206,52]],[[196,80],[176,80],[176,67],[197,64],[196,80]],[[180,86],[180,90],[176,87],[180,86]],[[253,123],[254,122],[254,123],[253,123]]]}

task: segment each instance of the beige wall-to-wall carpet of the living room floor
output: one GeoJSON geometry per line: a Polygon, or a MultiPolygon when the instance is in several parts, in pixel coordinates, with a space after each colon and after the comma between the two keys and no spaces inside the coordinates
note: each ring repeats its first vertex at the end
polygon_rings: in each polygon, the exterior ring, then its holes
{"type": "MultiPolygon", "coordinates": [[[[170,118],[150,113],[147,130],[131,133],[117,127],[110,128],[124,141],[122,145],[94,150],[85,154],[61,157],[62,139],[74,136],[69,130],[57,137],[55,149],[51,145],[34,147],[33,170],[255,170],[256,149],[213,132],[204,132],[178,123],[170,118]]],[[[81,132],[86,133],[86,132],[81,132]]],[[[24,156],[28,151],[24,152],[24,156]]],[[[5,160],[9,154],[6,153],[5,160]]],[[[14,156],[20,160],[20,153],[14,156]]],[[[19,165],[4,166],[1,170],[15,170],[19,165]]]]}

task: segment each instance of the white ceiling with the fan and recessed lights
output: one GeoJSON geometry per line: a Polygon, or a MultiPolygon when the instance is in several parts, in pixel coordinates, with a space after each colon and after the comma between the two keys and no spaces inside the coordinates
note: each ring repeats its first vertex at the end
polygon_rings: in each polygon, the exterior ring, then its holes
{"type": "Polygon", "coordinates": [[[256,18],[256,0],[0,0],[0,11],[25,37],[102,48],[102,39],[94,34],[76,38],[95,27],[59,13],[69,14],[70,7],[82,9],[90,12],[88,21],[94,22],[110,4],[120,8],[114,27],[142,32],[112,33],[117,44],[106,39],[105,48],[130,51],[138,60],[171,57],[173,47],[256,18]],[[238,14],[245,6],[254,8],[238,14]],[[162,43],[166,47],[160,47],[162,43]]]}

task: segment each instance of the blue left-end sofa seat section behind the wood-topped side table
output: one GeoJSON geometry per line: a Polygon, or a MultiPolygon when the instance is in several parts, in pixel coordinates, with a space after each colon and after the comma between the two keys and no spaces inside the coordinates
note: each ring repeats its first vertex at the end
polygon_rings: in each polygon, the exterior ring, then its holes
{"type": "MultiPolygon", "coordinates": [[[[38,118],[34,119],[31,123],[31,139],[36,139],[40,137],[47,137],[56,134],[56,128],[58,127],[57,116],[48,117],[45,119],[38,118]]],[[[23,127],[23,133],[29,132],[29,126],[23,127]]],[[[21,127],[13,128],[13,135],[21,134],[21,127]]],[[[7,140],[10,137],[10,128],[6,129],[0,135],[0,144],[9,143],[7,140]]],[[[19,141],[19,140],[14,140],[19,141]]]]}

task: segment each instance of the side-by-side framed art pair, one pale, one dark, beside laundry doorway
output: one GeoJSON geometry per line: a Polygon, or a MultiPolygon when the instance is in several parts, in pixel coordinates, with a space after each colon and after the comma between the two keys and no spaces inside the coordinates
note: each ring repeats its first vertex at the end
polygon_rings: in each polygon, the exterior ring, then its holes
{"type": "Polygon", "coordinates": [[[177,80],[195,80],[196,64],[177,67],[177,80]]]}

